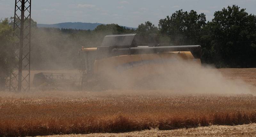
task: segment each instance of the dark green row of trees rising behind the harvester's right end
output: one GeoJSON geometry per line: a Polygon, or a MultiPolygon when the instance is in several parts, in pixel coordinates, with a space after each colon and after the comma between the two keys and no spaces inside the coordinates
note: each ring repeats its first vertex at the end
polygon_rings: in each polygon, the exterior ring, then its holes
{"type": "Polygon", "coordinates": [[[140,33],[156,34],[173,45],[201,45],[203,63],[218,68],[256,67],[256,16],[237,5],[216,11],[208,22],[204,13],[179,10],[160,19],[158,28],[150,22],[139,28],[140,33]]]}

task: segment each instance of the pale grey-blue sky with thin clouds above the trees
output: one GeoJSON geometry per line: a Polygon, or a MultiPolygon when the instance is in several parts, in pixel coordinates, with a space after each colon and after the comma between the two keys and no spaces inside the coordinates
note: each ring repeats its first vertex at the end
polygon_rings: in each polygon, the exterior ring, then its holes
{"type": "MultiPolygon", "coordinates": [[[[14,15],[15,0],[0,0],[0,19],[14,15]]],[[[145,21],[156,26],[177,10],[195,10],[212,20],[215,11],[236,4],[256,14],[256,0],[32,0],[31,18],[39,24],[62,22],[115,23],[138,27],[145,21]]]]}

